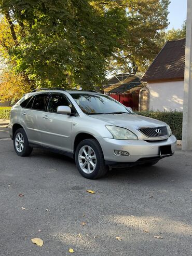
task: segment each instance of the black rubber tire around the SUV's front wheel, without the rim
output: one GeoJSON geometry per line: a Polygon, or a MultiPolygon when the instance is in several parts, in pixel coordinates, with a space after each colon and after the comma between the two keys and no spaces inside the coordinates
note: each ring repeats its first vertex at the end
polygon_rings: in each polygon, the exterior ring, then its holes
{"type": "Polygon", "coordinates": [[[76,151],[75,151],[75,163],[76,163],[77,169],[80,172],[80,174],[87,179],[97,179],[99,177],[102,177],[106,173],[105,160],[103,157],[103,152],[102,152],[101,146],[100,146],[99,142],[94,139],[86,139],[86,140],[81,141],[78,144],[76,151]],[[91,146],[92,149],[94,150],[96,157],[97,157],[97,164],[92,173],[85,173],[83,170],[81,170],[81,168],[79,166],[78,153],[79,153],[79,150],[81,149],[81,147],[83,147],[85,145],[91,146]]]}

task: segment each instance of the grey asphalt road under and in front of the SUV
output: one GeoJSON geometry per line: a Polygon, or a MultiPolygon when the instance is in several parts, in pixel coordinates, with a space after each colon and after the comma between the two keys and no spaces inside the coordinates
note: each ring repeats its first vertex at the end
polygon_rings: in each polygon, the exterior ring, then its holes
{"type": "Polygon", "coordinates": [[[87,180],[69,158],[19,157],[0,138],[1,256],[192,255],[192,152],[87,180]]]}

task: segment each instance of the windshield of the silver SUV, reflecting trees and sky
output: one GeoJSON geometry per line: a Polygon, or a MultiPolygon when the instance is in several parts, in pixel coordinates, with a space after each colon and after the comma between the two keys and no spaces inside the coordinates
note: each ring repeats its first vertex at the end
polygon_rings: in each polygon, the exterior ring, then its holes
{"type": "Polygon", "coordinates": [[[80,109],[88,115],[93,114],[133,114],[124,105],[106,95],[90,95],[86,93],[71,93],[80,109]]]}

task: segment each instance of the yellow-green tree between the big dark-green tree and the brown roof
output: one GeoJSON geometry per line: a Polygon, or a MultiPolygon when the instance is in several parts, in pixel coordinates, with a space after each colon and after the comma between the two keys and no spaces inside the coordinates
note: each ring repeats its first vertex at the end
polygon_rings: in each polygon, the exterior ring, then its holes
{"type": "Polygon", "coordinates": [[[142,74],[159,52],[161,31],[168,26],[168,0],[129,1],[126,38],[108,61],[109,72],[142,74]]]}

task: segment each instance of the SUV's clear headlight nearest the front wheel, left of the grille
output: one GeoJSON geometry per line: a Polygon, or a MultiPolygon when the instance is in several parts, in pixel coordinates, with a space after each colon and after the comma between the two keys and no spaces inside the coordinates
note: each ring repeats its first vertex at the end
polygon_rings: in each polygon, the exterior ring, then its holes
{"type": "Polygon", "coordinates": [[[117,140],[138,140],[138,137],[130,130],[113,125],[105,126],[117,140]]]}

